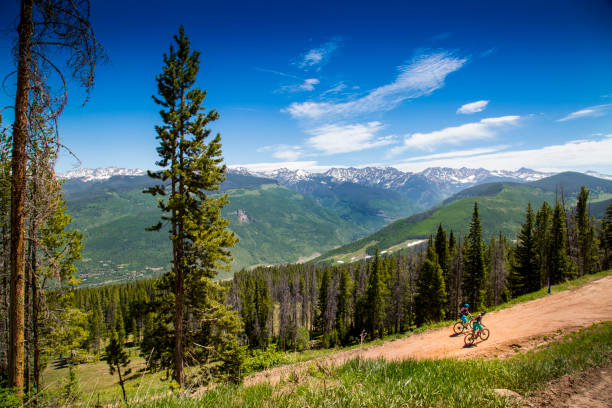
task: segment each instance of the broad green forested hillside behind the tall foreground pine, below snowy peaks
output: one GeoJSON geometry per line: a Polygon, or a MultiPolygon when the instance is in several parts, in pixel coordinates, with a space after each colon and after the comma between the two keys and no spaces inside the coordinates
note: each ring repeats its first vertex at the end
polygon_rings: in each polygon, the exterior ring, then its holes
{"type": "MultiPolygon", "coordinates": [[[[169,264],[167,234],[145,231],[160,216],[156,198],[142,194],[150,185],[146,176],[65,182],[68,213],[84,234],[78,267],[85,285],[157,276],[169,264]]],[[[229,175],[221,190],[230,198],[223,215],[240,238],[232,251],[233,271],[295,262],[368,232],[270,179],[229,175]]]]}

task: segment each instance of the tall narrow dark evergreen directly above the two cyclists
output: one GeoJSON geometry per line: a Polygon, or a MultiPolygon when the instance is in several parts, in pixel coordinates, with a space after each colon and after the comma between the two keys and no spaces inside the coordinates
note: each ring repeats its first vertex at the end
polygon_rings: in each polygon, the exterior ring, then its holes
{"type": "Polygon", "coordinates": [[[465,245],[465,273],[462,289],[465,300],[472,310],[481,310],[484,306],[487,271],[482,242],[482,227],[478,214],[478,204],[474,203],[470,232],[465,245]]]}

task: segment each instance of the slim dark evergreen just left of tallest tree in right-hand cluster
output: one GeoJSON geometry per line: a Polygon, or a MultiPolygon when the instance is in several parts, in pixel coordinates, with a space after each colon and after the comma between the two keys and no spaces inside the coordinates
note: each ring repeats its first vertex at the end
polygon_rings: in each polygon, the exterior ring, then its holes
{"type": "Polygon", "coordinates": [[[553,210],[548,249],[551,284],[561,283],[573,275],[571,261],[566,252],[567,228],[565,222],[565,210],[561,203],[557,202],[553,210]]]}

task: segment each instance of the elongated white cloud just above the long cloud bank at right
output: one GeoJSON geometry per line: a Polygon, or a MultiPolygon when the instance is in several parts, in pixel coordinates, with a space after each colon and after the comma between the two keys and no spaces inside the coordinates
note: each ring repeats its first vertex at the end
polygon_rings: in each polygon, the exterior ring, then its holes
{"type": "Polygon", "coordinates": [[[406,135],[402,146],[395,147],[390,153],[393,155],[408,149],[430,149],[441,144],[458,145],[470,140],[492,139],[497,135],[498,130],[517,124],[520,118],[514,115],[500,116],[447,127],[430,133],[412,133],[406,135]]]}

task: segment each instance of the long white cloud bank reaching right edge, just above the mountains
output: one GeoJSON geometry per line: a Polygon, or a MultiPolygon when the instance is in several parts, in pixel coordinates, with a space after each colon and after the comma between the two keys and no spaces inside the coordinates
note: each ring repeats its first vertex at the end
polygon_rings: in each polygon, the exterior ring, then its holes
{"type": "Polygon", "coordinates": [[[409,159],[394,166],[404,171],[421,171],[427,167],[483,167],[490,170],[511,170],[528,167],[540,171],[589,170],[609,168],[612,156],[612,135],[596,140],[573,140],[564,144],[544,146],[538,149],[512,150],[474,154],[454,158],[428,156],[409,159]]]}

